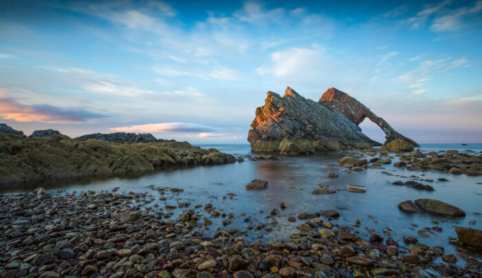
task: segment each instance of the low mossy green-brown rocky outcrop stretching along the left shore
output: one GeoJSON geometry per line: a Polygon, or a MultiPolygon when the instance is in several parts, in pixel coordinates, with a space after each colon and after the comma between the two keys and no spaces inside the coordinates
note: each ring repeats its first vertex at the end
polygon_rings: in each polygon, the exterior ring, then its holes
{"type": "Polygon", "coordinates": [[[118,143],[66,136],[23,139],[0,134],[0,186],[23,182],[143,173],[171,165],[235,162],[216,149],[188,142],[118,143]]]}

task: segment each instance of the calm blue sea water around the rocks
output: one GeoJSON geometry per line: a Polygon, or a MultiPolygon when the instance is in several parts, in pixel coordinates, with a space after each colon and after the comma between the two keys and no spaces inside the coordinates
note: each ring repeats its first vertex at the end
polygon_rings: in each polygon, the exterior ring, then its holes
{"type": "MultiPolygon", "coordinates": [[[[249,145],[200,145],[202,148],[216,148],[235,156],[251,154],[249,145]]],[[[457,149],[459,151],[482,151],[479,145],[421,145],[423,151],[439,151],[457,149]]],[[[398,169],[392,165],[384,166],[385,169],[366,169],[362,172],[343,173],[343,167],[337,166],[337,160],[344,156],[341,153],[326,153],[323,156],[283,157],[274,161],[250,161],[213,167],[191,167],[184,169],[170,169],[158,173],[143,175],[138,178],[112,178],[75,182],[70,184],[50,183],[43,184],[47,189],[72,191],[110,191],[119,187],[120,192],[149,192],[156,200],[160,194],[154,188],[176,187],[184,189],[180,195],[174,195],[167,201],[160,202],[176,205],[178,200],[189,200],[191,206],[196,204],[212,203],[215,208],[224,208],[224,213],[233,213],[235,219],[230,226],[244,228],[244,219],[251,215],[252,225],[258,222],[267,223],[266,219],[271,208],[279,208],[284,202],[288,208],[281,211],[277,218],[277,226],[273,232],[252,231],[248,237],[252,240],[269,240],[273,238],[288,239],[289,233],[296,232],[295,228],[302,221],[288,222],[289,215],[298,213],[319,212],[328,209],[337,209],[340,213],[339,220],[333,224],[351,225],[356,220],[362,222],[361,235],[368,238],[368,228],[375,228],[381,233],[384,228],[392,229],[392,237],[403,245],[403,236],[413,236],[419,242],[430,246],[443,246],[446,252],[455,253],[456,247],[448,244],[448,237],[456,237],[452,226],[471,226],[482,228],[482,177],[469,177],[467,175],[450,175],[437,171],[416,172],[398,169]],[[326,167],[331,163],[335,166],[326,167]],[[339,178],[330,179],[326,175],[335,172],[339,178]],[[386,175],[383,171],[392,173],[386,175]],[[399,175],[399,176],[397,176],[399,175]],[[418,191],[407,186],[395,186],[396,180],[412,180],[410,175],[419,178],[431,179],[434,182],[423,182],[434,187],[435,191],[418,191]],[[244,186],[254,179],[263,179],[269,182],[268,189],[264,191],[246,191],[244,186]],[[446,178],[449,182],[437,182],[437,178],[446,178]],[[345,190],[348,183],[362,184],[368,187],[366,193],[350,193],[345,190]],[[311,191],[317,184],[327,184],[331,189],[340,189],[330,195],[312,195],[311,191]],[[229,193],[235,194],[232,199],[223,198],[229,193]],[[425,213],[408,215],[397,208],[399,202],[416,200],[419,198],[439,199],[454,206],[462,208],[467,215],[462,218],[450,219],[437,217],[425,213]],[[240,215],[246,213],[246,216],[240,215]],[[428,237],[419,235],[417,231],[424,227],[440,226],[443,231],[428,233],[428,237]]],[[[397,159],[392,160],[396,162],[397,159]]],[[[32,187],[32,186],[30,186],[32,187]]],[[[17,187],[13,191],[31,191],[29,186],[17,187]]],[[[5,191],[5,189],[4,189],[5,191]]],[[[12,189],[8,189],[12,191],[12,189]]],[[[182,209],[174,211],[178,213],[182,209]]],[[[214,225],[220,224],[222,218],[213,220],[214,225]]],[[[386,236],[384,236],[386,237],[386,236]]]]}

